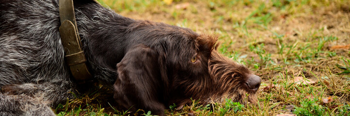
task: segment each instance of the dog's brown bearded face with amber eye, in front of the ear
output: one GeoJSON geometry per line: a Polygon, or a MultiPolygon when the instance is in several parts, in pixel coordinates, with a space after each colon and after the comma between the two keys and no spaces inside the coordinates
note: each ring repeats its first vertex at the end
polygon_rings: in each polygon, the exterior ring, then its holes
{"type": "Polygon", "coordinates": [[[256,102],[256,91],[261,79],[250,72],[247,67],[223,57],[216,51],[217,38],[198,35],[187,31],[180,38],[174,38],[172,51],[167,60],[170,74],[170,104],[184,104],[188,98],[202,103],[256,102]],[[180,96],[179,96],[180,95],[180,96]],[[184,99],[182,99],[184,97],[184,99]]]}

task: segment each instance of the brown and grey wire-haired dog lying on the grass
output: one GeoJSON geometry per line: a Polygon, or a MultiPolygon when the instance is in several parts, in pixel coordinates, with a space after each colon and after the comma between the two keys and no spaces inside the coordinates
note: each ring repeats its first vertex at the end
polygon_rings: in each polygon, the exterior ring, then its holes
{"type": "MultiPolygon", "coordinates": [[[[256,102],[261,78],[217,52],[217,37],[74,0],[93,78],[118,104],[164,115],[173,103],[256,102]]],[[[80,87],[65,63],[58,0],[0,0],[0,115],[55,116],[80,87]]]]}

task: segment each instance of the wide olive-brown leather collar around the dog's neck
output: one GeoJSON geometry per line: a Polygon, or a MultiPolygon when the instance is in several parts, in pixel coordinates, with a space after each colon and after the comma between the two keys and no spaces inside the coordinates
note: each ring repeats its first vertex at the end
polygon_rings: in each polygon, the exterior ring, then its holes
{"type": "Polygon", "coordinates": [[[81,48],[75,20],[73,0],[59,0],[60,35],[65,48],[65,61],[75,80],[83,82],[92,78],[85,64],[86,58],[81,48]]]}

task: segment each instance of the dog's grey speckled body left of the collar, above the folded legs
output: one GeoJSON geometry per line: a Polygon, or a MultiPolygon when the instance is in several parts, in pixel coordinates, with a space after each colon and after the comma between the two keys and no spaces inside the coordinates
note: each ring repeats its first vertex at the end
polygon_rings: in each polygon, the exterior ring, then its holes
{"type": "Polygon", "coordinates": [[[57,0],[3,0],[0,14],[0,87],[68,80],[57,0]]]}

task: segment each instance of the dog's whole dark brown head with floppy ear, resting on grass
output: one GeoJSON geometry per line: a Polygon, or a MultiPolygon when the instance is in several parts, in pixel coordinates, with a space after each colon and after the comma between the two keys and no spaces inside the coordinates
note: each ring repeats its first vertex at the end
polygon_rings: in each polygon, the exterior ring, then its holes
{"type": "Polygon", "coordinates": [[[190,98],[256,102],[260,77],[217,53],[216,37],[148,21],[134,23],[127,33],[134,41],[117,64],[114,85],[114,97],[124,107],[162,114],[169,104],[190,98]]]}

